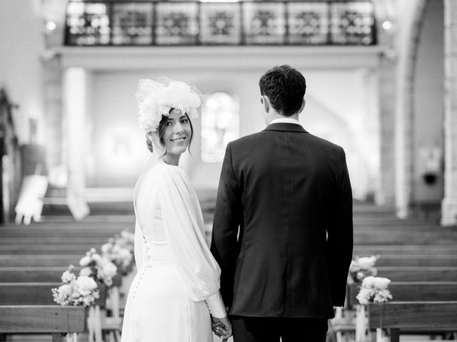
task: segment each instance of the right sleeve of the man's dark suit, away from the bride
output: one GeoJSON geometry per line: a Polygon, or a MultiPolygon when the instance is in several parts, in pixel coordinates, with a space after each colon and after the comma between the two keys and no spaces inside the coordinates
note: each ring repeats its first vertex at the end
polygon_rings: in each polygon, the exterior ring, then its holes
{"type": "Polygon", "coordinates": [[[328,263],[334,306],[343,306],[353,250],[352,190],[346,155],[341,149],[340,177],[336,189],[335,222],[328,231],[328,263]]]}

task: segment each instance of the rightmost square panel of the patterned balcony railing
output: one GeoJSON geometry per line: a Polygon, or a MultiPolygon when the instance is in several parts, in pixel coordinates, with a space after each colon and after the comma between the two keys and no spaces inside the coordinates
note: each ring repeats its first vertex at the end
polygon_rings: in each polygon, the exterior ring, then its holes
{"type": "Polygon", "coordinates": [[[373,4],[366,1],[331,4],[331,43],[373,44],[373,11],[373,4]]]}

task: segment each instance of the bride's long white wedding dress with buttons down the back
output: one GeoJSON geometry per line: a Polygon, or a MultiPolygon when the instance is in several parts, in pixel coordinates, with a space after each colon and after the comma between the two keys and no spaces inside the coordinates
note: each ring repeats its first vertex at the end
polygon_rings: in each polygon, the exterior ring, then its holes
{"type": "Polygon", "coordinates": [[[219,265],[181,168],[156,162],[136,186],[135,260],[121,342],[212,342],[210,311],[226,316],[219,265]]]}

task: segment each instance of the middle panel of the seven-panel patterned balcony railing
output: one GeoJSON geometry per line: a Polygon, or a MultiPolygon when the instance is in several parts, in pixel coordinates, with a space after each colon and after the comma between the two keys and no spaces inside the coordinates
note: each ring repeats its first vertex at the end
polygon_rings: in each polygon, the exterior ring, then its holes
{"type": "Polygon", "coordinates": [[[201,4],[201,42],[239,44],[241,14],[239,4],[201,4]]]}

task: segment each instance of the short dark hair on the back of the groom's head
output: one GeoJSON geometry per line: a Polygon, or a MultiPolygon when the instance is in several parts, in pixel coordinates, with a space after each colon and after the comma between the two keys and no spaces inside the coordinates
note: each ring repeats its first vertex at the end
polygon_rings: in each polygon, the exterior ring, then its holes
{"type": "Polygon", "coordinates": [[[261,95],[266,95],[274,109],[281,115],[291,116],[298,112],[306,92],[306,80],[291,66],[275,66],[258,81],[261,95]]]}

